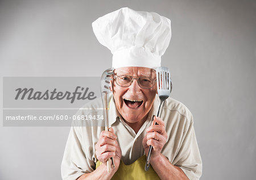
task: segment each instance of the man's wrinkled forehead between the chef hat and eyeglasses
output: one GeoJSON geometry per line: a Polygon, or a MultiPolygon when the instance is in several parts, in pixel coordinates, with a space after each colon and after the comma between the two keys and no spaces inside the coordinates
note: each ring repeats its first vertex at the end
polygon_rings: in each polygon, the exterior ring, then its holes
{"type": "Polygon", "coordinates": [[[144,67],[122,67],[114,70],[115,75],[129,75],[129,76],[144,76],[144,77],[155,77],[155,69],[144,68],[144,67]]]}

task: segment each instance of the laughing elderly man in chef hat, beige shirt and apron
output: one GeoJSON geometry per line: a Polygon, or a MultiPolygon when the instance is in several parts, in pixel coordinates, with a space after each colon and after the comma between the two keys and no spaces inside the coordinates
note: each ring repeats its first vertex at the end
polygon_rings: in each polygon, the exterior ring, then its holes
{"type": "MultiPolygon", "coordinates": [[[[154,68],[170,42],[170,20],[122,8],[93,22],[93,31],[113,53],[111,128],[82,123],[71,128],[61,164],[63,179],[199,179],[201,157],[191,112],[168,98],[162,119],[155,116],[159,97],[154,68]],[[144,171],[150,145],[151,167],[144,171]],[[110,157],[115,168],[107,173],[110,157]]],[[[86,107],[98,115],[101,101],[86,107]]]]}

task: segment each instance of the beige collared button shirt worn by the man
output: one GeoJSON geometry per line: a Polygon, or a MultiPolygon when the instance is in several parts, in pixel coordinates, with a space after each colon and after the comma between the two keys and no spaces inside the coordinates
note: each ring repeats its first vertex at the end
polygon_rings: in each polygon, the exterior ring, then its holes
{"type": "MultiPolygon", "coordinates": [[[[136,134],[126,124],[115,108],[113,98],[110,100],[109,127],[114,129],[117,141],[122,150],[122,161],[128,165],[143,156],[142,140],[146,134],[146,128],[150,126],[153,115],[156,115],[160,100],[156,95],[154,104],[148,114],[146,122],[136,134]]],[[[101,99],[86,104],[77,115],[98,115],[103,113],[101,99]]],[[[163,107],[162,119],[164,121],[167,142],[162,149],[162,154],[168,158],[171,164],[179,166],[189,179],[199,179],[202,172],[202,162],[197,146],[193,117],[191,112],[182,103],[168,98],[163,107]]],[[[63,179],[77,179],[84,173],[95,170],[97,157],[95,145],[100,137],[100,120],[84,120],[75,122],[69,132],[64,157],[61,164],[63,179]]]]}

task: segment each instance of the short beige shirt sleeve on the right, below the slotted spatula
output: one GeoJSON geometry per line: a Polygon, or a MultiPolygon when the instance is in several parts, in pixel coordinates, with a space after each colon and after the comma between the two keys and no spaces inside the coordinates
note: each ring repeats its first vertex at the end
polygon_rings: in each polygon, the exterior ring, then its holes
{"type": "Polygon", "coordinates": [[[188,128],[184,130],[182,139],[173,164],[179,166],[189,179],[199,179],[202,174],[202,161],[196,141],[193,119],[188,128]]]}

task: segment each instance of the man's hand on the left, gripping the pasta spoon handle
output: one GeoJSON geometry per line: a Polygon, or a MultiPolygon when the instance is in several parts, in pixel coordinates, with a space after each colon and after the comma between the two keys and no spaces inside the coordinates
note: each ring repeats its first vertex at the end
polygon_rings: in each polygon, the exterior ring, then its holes
{"type": "Polygon", "coordinates": [[[100,135],[100,139],[95,145],[95,153],[97,159],[105,164],[106,161],[110,158],[114,158],[115,163],[115,171],[117,171],[120,160],[122,157],[122,152],[119,144],[117,143],[117,136],[114,134],[114,129],[109,128],[109,131],[102,131],[100,135]]]}

